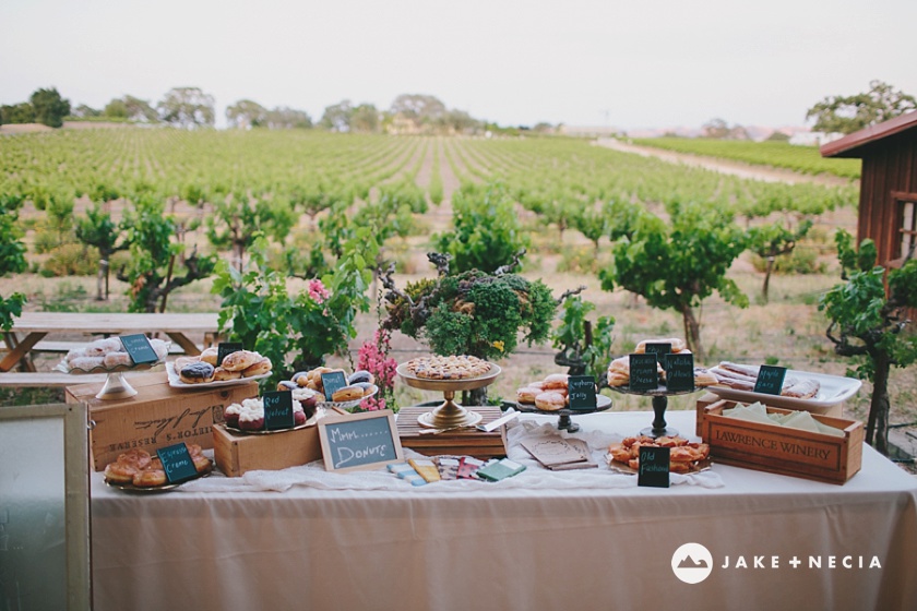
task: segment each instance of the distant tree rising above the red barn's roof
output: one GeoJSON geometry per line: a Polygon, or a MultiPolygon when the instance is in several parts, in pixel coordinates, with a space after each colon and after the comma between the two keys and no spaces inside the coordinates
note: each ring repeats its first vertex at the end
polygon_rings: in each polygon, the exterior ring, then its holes
{"type": "Polygon", "coordinates": [[[882,81],[870,81],[869,91],[851,96],[827,96],[806,112],[814,131],[854,133],[917,109],[914,96],[882,81]]]}

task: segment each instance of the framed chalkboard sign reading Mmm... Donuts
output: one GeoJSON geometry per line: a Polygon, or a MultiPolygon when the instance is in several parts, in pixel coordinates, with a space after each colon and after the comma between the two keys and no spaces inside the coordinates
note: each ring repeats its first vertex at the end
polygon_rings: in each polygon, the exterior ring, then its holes
{"type": "Polygon", "coordinates": [[[404,460],[391,409],[319,420],[319,440],[329,471],[371,469],[404,460]]]}

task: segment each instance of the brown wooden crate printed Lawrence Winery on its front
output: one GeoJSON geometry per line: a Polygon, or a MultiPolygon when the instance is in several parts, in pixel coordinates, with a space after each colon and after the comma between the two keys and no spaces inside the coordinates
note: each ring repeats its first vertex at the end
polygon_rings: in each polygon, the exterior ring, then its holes
{"type": "MultiPolygon", "coordinates": [[[[710,444],[715,463],[829,483],[844,483],[860,470],[862,422],[812,415],[815,420],[843,430],[844,436],[837,438],[723,416],[724,409],[736,405],[720,400],[703,409],[701,438],[710,444]]],[[[767,411],[791,412],[777,407],[769,407],[767,411]]]]}

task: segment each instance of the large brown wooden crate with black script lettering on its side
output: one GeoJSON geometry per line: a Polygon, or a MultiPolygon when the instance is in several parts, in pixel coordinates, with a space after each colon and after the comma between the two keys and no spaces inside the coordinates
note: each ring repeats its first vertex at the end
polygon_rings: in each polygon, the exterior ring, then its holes
{"type": "Polygon", "coordinates": [[[126,399],[95,398],[103,382],[67,387],[67,403],[88,404],[94,423],[90,433],[93,466],[97,471],[132,447],[152,453],[183,441],[211,448],[211,429],[214,422],[223,422],[223,410],[258,396],[258,382],[179,390],[169,386],[165,372],[131,375],[128,381],[138,394],[126,399]]]}

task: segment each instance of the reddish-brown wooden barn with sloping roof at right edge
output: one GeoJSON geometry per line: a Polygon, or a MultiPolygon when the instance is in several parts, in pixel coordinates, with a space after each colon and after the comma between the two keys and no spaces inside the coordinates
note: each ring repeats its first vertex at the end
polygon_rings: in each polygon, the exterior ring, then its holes
{"type": "Polygon", "coordinates": [[[917,111],[854,132],[820,151],[823,157],[862,159],[857,242],[871,238],[879,264],[900,267],[917,244],[917,111]]]}

